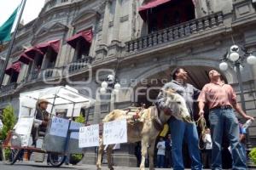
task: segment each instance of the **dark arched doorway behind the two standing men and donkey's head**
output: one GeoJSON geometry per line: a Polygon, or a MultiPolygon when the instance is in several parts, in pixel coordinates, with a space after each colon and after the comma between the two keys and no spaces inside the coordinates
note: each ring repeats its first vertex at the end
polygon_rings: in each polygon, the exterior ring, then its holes
{"type": "MultiPolygon", "coordinates": [[[[137,105],[146,104],[146,107],[153,105],[155,99],[157,98],[160,88],[163,87],[163,85],[166,82],[171,81],[171,75],[172,71],[176,67],[170,67],[166,69],[165,71],[160,71],[158,73],[155,73],[154,75],[151,75],[149,77],[145,77],[146,80],[143,82],[140,82],[135,90],[135,100],[137,102],[137,105]],[[136,96],[137,95],[137,96],[136,96]]],[[[182,68],[188,72],[189,78],[188,82],[195,86],[195,88],[201,89],[203,86],[210,82],[210,79],[208,77],[208,72],[211,71],[213,67],[209,66],[195,66],[195,65],[184,65],[182,68]]],[[[227,82],[226,77],[222,75],[224,82],[227,82]]],[[[198,112],[198,106],[197,103],[195,103],[195,113],[198,112]]],[[[206,119],[207,119],[207,126],[209,127],[208,122],[208,110],[206,109],[206,119]]],[[[197,116],[194,117],[195,120],[197,120],[197,116]]],[[[200,129],[198,129],[200,131],[200,129]]],[[[199,132],[201,133],[201,132],[199,132]]],[[[184,166],[189,168],[190,167],[190,158],[189,158],[189,151],[187,144],[184,143],[183,147],[183,163],[184,166]]]]}

